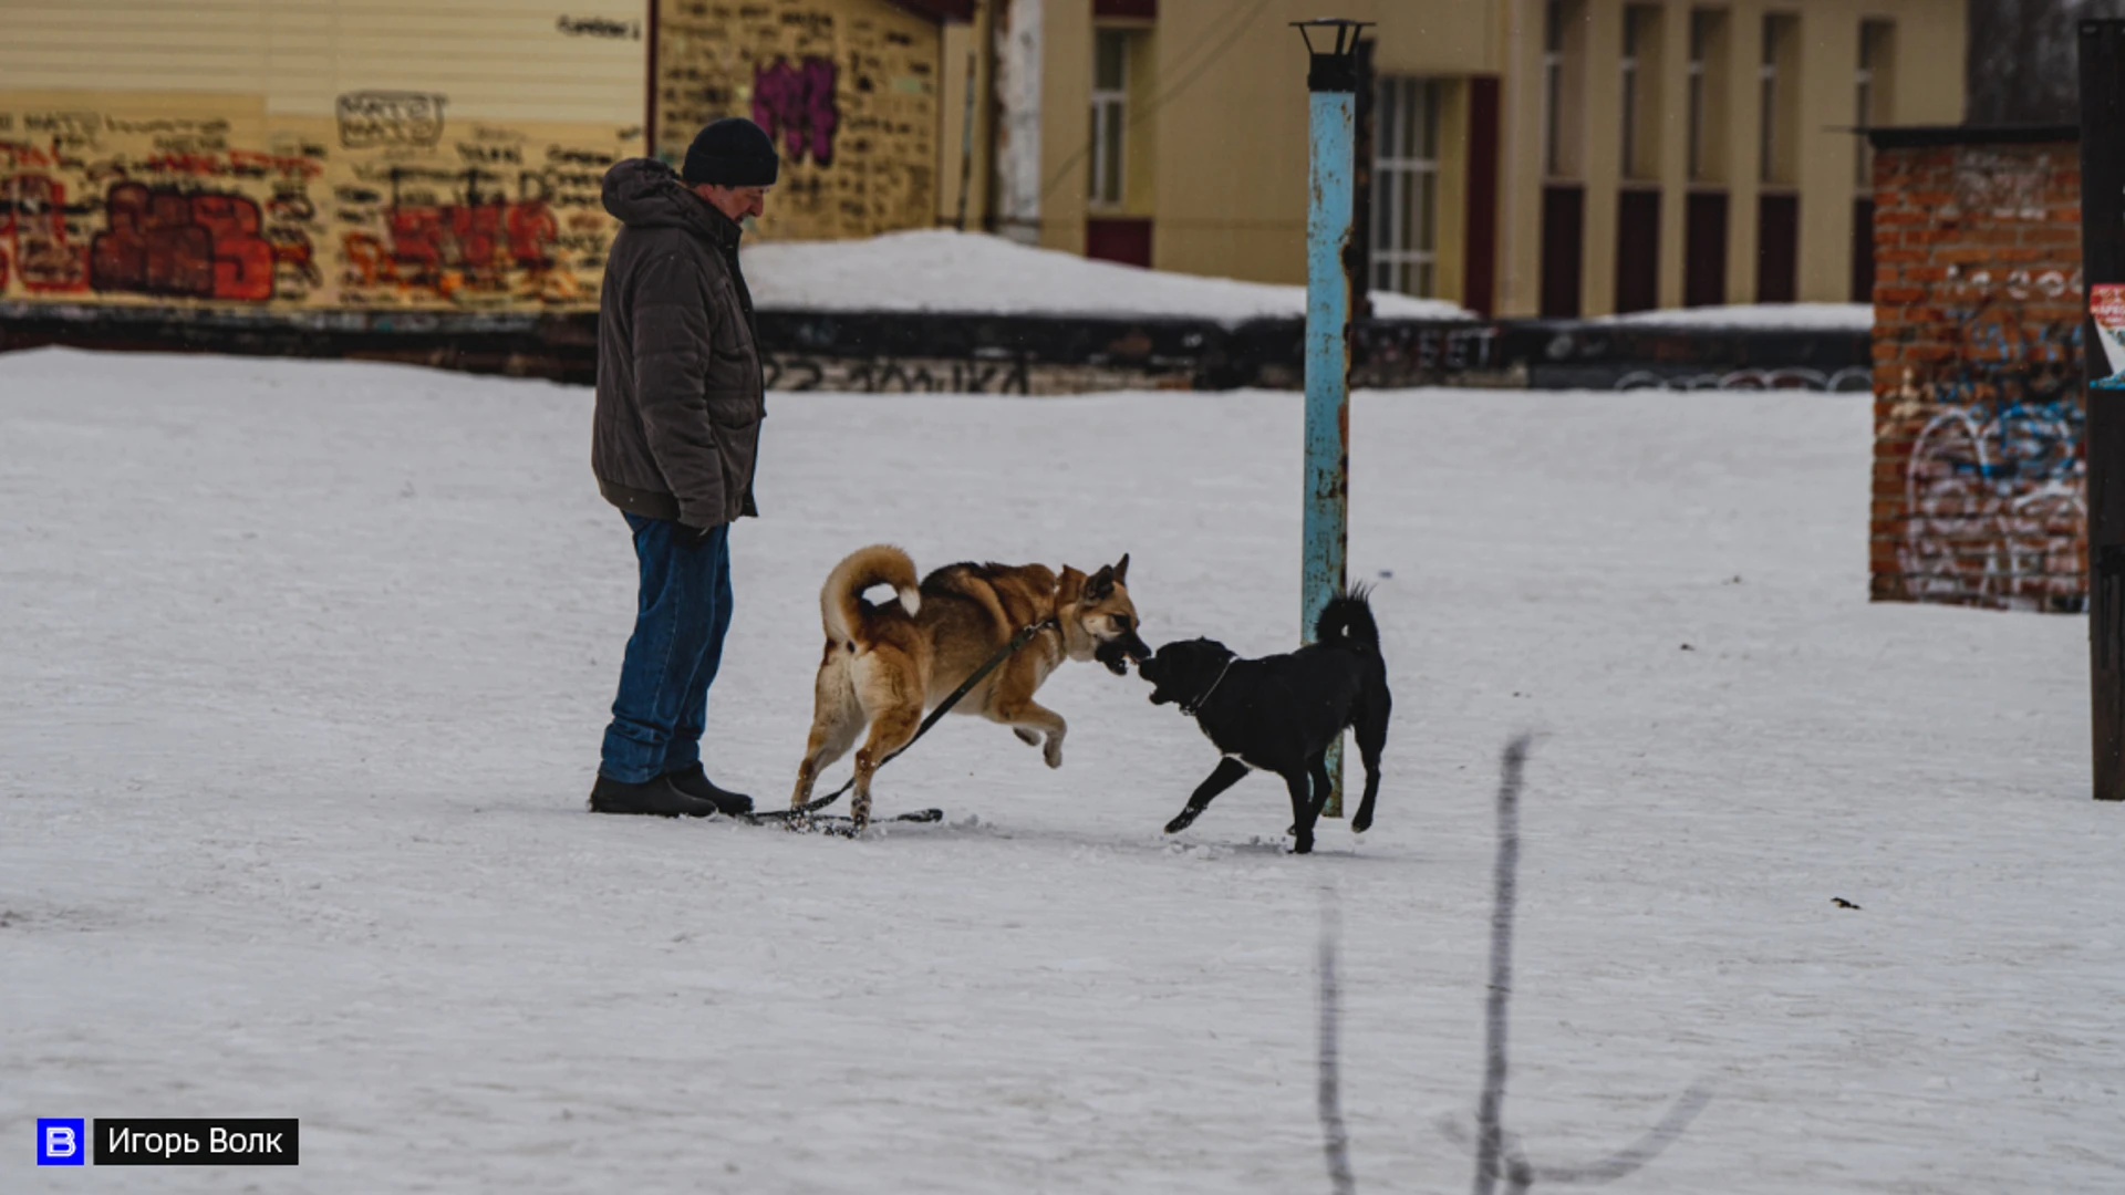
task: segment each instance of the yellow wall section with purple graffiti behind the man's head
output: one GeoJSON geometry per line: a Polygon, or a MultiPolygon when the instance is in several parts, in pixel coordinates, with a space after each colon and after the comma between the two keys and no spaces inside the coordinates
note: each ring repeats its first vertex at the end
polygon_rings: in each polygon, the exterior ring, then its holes
{"type": "Polygon", "coordinates": [[[929,228],[937,213],[937,23],[886,0],[657,0],[657,153],[750,117],[782,153],[761,236],[929,228]]]}

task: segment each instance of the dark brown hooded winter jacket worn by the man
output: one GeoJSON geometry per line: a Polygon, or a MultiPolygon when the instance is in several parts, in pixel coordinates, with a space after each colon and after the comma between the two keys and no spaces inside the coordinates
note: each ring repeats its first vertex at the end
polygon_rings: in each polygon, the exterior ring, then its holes
{"type": "Polygon", "coordinates": [[[737,223],[652,157],[606,170],[606,211],[625,228],[597,302],[597,489],[695,527],[759,515],[767,406],[737,223]]]}

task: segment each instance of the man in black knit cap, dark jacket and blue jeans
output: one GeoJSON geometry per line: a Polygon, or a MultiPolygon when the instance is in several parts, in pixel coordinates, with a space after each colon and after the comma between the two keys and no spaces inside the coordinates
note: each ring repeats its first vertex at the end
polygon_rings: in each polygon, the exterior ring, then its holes
{"type": "Polygon", "coordinates": [[[606,170],[625,228],[597,306],[591,472],[635,536],[642,593],[591,810],[748,812],[701,770],[708,685],[731,629],[731,523],[752,506],[765,415],[737,221],[761,215],[774,140],[748,119],[701,130],[680,174],[652,157],[606,170]]]}

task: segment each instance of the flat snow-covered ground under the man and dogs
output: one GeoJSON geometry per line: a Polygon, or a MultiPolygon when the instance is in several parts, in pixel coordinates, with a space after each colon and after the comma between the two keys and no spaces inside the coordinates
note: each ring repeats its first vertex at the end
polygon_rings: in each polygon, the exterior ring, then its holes
{"type": "MultiPolygon", "coordinates": [[[[1379,823],[1288,857],[1145,685],[952,719],[869,842],[582,812],[633,602],[589,391],[0,357],[0,1189],[1460,1191],[1498,751],[1507,1127],[1643,1193],[2125,1189],[2125,810],[2082,619],[1868,606],[1868,398],[1364,393],[1379,823]],[[1392,576],[1390,576],[1392,574],[1392,576]],[[1832,897],[1859,910],[1832,906],[1832,897]],[[300,1116],[302,1169],[38,1172],[34,1116],[300,1116]],[[246,1186],[255,1184],[255,1186],[246,1186]]],[[[780,802],[816,587],[1133,553],[1152,642],[1296,638],[1298,398],[774,395],[718,776],[780,802]]],[[[835,772],[839,776],[839,772],[835,772]]]]}

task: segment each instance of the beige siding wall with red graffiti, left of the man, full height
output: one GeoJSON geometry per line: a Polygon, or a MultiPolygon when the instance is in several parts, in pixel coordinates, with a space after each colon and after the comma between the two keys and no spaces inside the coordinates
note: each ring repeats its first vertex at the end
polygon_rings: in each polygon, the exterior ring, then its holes
{"type": "Polygon", "coordinates": [[[0,298],[589,308],[642,151],[646,11],[0,9],[0,298]]]}

